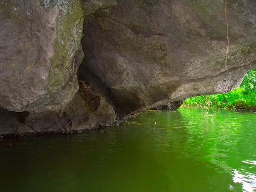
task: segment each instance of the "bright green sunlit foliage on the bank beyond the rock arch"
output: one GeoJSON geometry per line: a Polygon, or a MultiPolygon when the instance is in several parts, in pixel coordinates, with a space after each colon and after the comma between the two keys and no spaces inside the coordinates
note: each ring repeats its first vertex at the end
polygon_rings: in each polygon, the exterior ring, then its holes
{"type": "Polygon", "coordinates": [[[256,69],[249,70],[237,89],[218,95],[197,96],[186,99],[183,105],[252,109],[256,108],[256,69]]]}

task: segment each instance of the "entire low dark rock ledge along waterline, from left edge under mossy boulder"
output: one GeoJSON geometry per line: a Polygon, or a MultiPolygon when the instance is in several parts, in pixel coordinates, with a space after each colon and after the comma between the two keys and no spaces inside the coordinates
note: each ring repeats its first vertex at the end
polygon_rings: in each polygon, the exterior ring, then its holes
{"type": "Polygon", "coordinates": [[[63,111],[58,112],[28,113],[0,108],[0,137],[77,133],[92,128],[115,125],[119,122],[115,110],[105,99],[99,98],[93,102],[94,105],[90,105],[90,108],[88,105],[84,106],[85,102],[81,95],[76,93],[63,111]],[[91,111],[91,107],[93,107],[93,111],[91,111]]]}

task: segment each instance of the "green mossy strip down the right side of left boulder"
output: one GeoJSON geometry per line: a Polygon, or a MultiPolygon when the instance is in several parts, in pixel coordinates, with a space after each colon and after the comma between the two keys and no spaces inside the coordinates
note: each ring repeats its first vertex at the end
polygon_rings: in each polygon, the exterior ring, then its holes
{"type": "Polygon", "coordinates": [[[65,14],[58,19],[57,38],[53,42],[54,55],[50,58],[51,71],[48,79],[50,93],[62,87],[69,76],[76,74],[84,58],[80,43],[83,37],[84,15],[80,0],[71,1],[65,9],[62,11],[65,14]]]}

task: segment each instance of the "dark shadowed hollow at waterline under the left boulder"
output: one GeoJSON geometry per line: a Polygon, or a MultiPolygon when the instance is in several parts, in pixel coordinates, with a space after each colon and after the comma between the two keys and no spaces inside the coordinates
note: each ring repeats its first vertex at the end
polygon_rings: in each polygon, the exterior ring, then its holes
{"type": "Polygon", "coordinates": [[[26,117],[28,116],[28,111],[15,112],[0,108],[0,135],[17,135],[20,133],[20,130],[25,132],[31,131],[31,128],[25,124],[26,117]]]}

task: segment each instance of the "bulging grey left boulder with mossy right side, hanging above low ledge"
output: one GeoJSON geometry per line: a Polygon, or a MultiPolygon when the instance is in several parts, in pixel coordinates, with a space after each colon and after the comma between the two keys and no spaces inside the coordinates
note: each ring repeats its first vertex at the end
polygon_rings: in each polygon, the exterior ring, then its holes
{"type": "Polygon", "coordinates": [[[73,99],[83,21],[80,0],[1,1],[1,108],[58,111],[73,99]]]}

